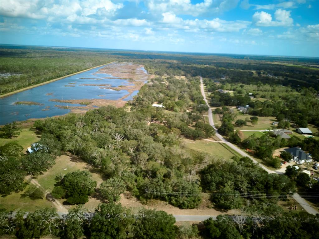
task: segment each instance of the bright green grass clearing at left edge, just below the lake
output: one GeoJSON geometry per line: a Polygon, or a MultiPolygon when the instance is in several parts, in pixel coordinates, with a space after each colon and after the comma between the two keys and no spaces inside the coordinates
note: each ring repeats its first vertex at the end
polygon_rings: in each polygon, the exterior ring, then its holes
{"type": "Polygon", "coordinates": [[[23,147],[23,151],[26,151],[26,149],[34,142],[37,142],[40,140],[40,136],[37,135],[33,130],[27,128],[22,129],[20,132],[20,135],[17,137],[13,137],[11,139],[1,139],[0,145],[4,145],[11,141],[17,141],[18,144],[20,144],[23,147]]]}

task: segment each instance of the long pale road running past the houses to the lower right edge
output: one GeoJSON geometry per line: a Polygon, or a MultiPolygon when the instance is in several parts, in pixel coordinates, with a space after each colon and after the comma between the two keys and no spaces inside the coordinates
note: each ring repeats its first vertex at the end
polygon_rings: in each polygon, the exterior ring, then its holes
{"type": "MultiPolygon", "coordinates": [[[[217,132],[217,129],[215,127],[214,121],[213,121],[213,115],[211,112],[211,108],[208,104],[208,101],[206,99],[205,96],[205,91],[204,91],[204,84],[203,84],[203,78],[202,76],[200,76],[200,90],[201,93],[204,97],[204,100],[206,102],[206,105],[208,106],[208,120],[209,120],[209,124],[216,130],[216,136],[221,140],[224,141],[229,147],[231,147],[232,149],[234,149],[237,153],[239,153],[240,155],[244,156],[244,157],[249,157],[254,163],[257,163],[259,167],[261,167],[262,169],[266,170],[266,172],[268,173],[277,173],[277,174],[283,174],[283,172],[280,171],[272,171],[267,169],[265,166],[261,165],[260,163],[258,163],[254,158],[250,157],[248,154],[246,154],[245,152],[243,152],[241,149],[237,148],[236,146],[234,146],[234,144],[228,142],[222,135],[220,135],[217,132]]],[[[300,195],[298,193],[294,193],[293,194],[293,199],[295,199],[305,210],[306,212],[310,213],[310,214],[317,214],[318,211],[315,210],[315,208],[313,208],[312,206],[310,206],[303,198],[300,197],[300,195]]]]}

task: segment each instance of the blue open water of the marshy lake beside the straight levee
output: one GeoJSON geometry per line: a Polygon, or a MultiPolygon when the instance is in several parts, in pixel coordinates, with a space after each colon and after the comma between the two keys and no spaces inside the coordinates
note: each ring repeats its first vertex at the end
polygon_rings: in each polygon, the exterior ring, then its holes
{"type": "MultiPolygon", "coordinates": [[[[70,109],[63,109],[59,106],[83,106],[50,101],[77,100],[77,99],[110,99],[118,100],[128,95],[127,90],[115,91],[112,89],[101,89],[100,87],[117,87],[127,85],[130,82],[126,79],[118,79],[112,75],[99,73],[94,68],[73,76],[68,76],[58,81],[44,84],[26,91],[22,91],[0,99],[0,124],[4,125],[15,120],[22,121],[33,118],[45,118],[56,115],[63,115],[70,112],[70,109]],[[81,84],[108,84],[108,86],[90,86],[81,84]],[[16,105],[17,101],[31,101],[41,105],[16,105]]],[[[143,71],[146,73],[145,69],[143,71]]],[[[138,91],[134,91],[124,100],[130,100],[138,91]]]]}

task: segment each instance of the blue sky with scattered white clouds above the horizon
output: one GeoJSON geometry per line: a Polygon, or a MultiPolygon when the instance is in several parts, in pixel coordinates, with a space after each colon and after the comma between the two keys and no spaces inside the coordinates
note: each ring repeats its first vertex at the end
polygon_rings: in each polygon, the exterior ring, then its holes
{"type": "Polygon", "coordinates": [[[319,1],[4,0],[2,44],[319,57],[319,1]]]}

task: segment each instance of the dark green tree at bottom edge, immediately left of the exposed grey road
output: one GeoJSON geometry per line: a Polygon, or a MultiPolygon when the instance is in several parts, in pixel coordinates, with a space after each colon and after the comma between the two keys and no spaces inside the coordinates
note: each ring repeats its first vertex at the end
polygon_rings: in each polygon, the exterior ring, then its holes
{"type": "Polygon", "coordinates": [[[177,227],[175,218],[164,211],[141,209],[136,215],[136,239],[174,239],[177,227]]]}

